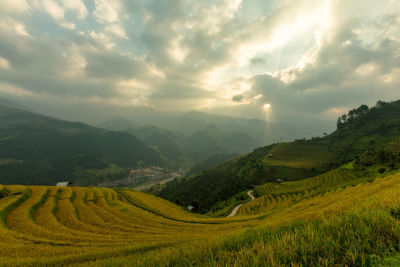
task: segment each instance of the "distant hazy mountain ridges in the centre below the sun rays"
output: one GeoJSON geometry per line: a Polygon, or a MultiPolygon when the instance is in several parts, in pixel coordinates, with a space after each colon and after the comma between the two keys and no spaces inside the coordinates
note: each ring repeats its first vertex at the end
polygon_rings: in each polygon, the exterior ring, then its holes
{"type": "Polygon", "coordinates": [[[99,125],[132,133],[157,148],[171,166],[183,168],[190,168],[217,154],[243,154],[279,140],[312,136],[313,130],[312,127],[199,111],[168,118],[162,125],[140,125],[133,118],[115,117],[99,125]]]}

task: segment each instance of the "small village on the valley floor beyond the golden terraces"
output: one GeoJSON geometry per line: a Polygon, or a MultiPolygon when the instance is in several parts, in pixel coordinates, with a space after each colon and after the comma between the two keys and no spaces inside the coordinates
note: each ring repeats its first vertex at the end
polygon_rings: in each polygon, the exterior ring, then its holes
{"type": "Polygon", "coordinates": [[[134,169],[129,172],[128,177],[112,182],[98,184],[101,187],[129,187],[137,190],[145,190],[157,183],[165,183],[174,178],[184,175],[183,170],[165,169],[159,166],[134,169]]]}

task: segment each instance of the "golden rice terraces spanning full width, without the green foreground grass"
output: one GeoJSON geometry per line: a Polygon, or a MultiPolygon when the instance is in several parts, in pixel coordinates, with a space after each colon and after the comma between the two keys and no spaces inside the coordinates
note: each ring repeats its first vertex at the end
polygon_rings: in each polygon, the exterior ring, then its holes
{"type": "Polygon", "coordinates": [[[233,218],[197,216],[130,190],[7,186],[9,196],[0,198],[0,266],[237,264],[253,250],[231,252],[233,258],[217,255],[231,246],[226,240],[243,231],[400,202],[400,174],[336,186],[354,179],[336,170],[280,188],[265,185],[258,188],[264,195],[243,205],[233,218]],[[330,189],[318,189],[325,187],[330,189]],[[193,264],[182,255],[192,257],[193,264]]]}

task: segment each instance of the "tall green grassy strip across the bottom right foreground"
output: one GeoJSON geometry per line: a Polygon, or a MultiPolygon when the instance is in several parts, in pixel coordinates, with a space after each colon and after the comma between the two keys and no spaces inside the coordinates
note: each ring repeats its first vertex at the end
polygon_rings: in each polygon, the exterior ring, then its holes
{"type": "Polygon", "coordinates": [[[92,266],[373,266],[399,251],[400,224],[387,209],[246,230],[221,241],[114,258],[92,266]]]}

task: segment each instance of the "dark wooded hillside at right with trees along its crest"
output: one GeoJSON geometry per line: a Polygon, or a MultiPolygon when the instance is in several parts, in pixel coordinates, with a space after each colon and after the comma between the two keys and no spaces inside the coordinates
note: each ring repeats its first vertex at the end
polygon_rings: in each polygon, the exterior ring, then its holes
{"type": "Polygon", "coordinates": [[[371,144],[381,146],[399,136],[400,101],[362,105],[338,120],[337,130],[324,137],[301,139],[255,149],[203,173],[168,183],[159,195],[199,212],[267,182],[301,180],[360,157],[371,144]]]}

